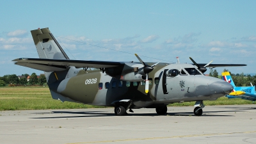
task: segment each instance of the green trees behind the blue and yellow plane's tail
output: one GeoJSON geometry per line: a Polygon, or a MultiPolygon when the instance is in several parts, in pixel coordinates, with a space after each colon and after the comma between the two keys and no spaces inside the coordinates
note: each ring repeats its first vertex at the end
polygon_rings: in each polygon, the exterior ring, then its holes
{"type": "MultiPolygon", "coordinates": [[[[228,69],[224,69],[223,72],[229,72],[228,69]]],[[[256,75],[251,76],[250,74],[244,74],[243,72],[241,74],[232,74],[232,72],[229,72],[230,76],[232,77],[234,83],[236,86],[251,86],[250,83],[253,84],[253,86],[256,85],[256,75]]],[[[209,76],[212,77],[218,77],[221,79],[221,76],[218,75],[218,72],[216,69],[211,69],[209,76]]]]}

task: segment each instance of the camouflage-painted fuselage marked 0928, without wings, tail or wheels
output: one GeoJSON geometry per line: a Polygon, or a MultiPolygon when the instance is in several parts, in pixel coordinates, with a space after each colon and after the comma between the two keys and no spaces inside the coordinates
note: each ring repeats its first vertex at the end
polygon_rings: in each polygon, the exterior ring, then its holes
{"type": "MultiPolygon", "coordinates": [[[[133,82],[135,85],[130,83],[127,86],[127,81],[122,81],[122,76],[120,79],[116,79],[100,70],[85,71],[74,67],[64,74],[56,72],[56,76],[52,72],[49,88],[51,92],[68,97],[71,101],[97,106],[115,106],[113,102],[117,100],[131,99],[133,103],[131,108],[156,108],[159,105],[173,102],[215,100],[225,95],[225,91],[231,89],[231,86],[225,81],[214,77],[189,74],[180,74],[176,77],[166,76],[167,70],[184,67],[194,68],[193,65],[186,63],[159,63],[149,74],[152,81],[148,93],[145,93],[143,81],[133,82]],[[72,77],[61,78],[61,75],[72,77]],[[100,83],[102,86],[99,86],[100,83]]],[[[60,95],[53,98],[61,100],[60,95]]]]}

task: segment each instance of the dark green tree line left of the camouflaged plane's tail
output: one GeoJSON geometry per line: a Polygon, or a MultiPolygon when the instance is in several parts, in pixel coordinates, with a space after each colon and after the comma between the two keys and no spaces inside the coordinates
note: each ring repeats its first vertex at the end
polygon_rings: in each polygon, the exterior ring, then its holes
{"type": "Polygon", "coordinates": [[[21,77],[19,79],[19,77],[16,76],[16,74],[4,75],[3,77],[0,77],[0,86],[6,86],[8,84],[15,84],[15,85],[17,85],[17,84],[19,84],[19,85],[40,84],[40,85],[43,85],[46,83],[46,78],[45,78],[44,74],[40,74],[40,76],[38,77],[34,72],[29,77],[29,81],[28,81],[29,74],[22,74],[22,76],[24,76],[24,77],[21,77]]]}

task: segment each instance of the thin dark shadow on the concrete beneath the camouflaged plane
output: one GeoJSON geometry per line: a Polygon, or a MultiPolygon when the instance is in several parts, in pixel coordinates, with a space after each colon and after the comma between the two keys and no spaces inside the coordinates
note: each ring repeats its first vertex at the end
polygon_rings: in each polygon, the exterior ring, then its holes
{"type": "MultiPolygon", "coordinates": [[[[245,110],[245,109],[244,109],[245,110]]],[[[228,112],[239,112],[242,110],[227,110],[227,111],[204,111],[202,116],[234,116],[234,115],[218,115],[218,113],[228,113],[228,112]]],[[[38,115],[44,115],[49,113],[35,113],[38,115]]],[[[101,117],[101,116],[115,116],[114,113],[109,113],[106,111],[52,111],[52,115],[54,114],[71,114],[71,116],[47,116],[47,117],[36,117],[38,119],[42,118],[88,118],[88,117],[101,117]]],[[[166,115],[169,116],[195,116],[193,112],[168,112],[166,115]]],[[[163,115],[163,116],[166,116],[163,115]]],[[[159,116],[156,113],[128,113],[125,116],[159,116]]]]}

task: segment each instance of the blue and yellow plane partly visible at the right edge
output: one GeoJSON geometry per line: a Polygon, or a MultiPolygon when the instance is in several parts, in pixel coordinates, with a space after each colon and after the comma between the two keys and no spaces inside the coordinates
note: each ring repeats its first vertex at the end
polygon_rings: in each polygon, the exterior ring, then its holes
{"type": "Polygon", "coordinates": [[[234,90],[231,93],[229,93],[229,95],[226,95],[228,99],[241,98],[245,100],[252,100],[253,102],[256,100],[256,93],[255,93],[256,86],[252,85],[252,86],[236,87],[229,72],[222,72],[221,74],[222,74],[222,79],[224,81],[227,81],[228,83],[232,84],[232,86],[234,86],[234,90]]]}

